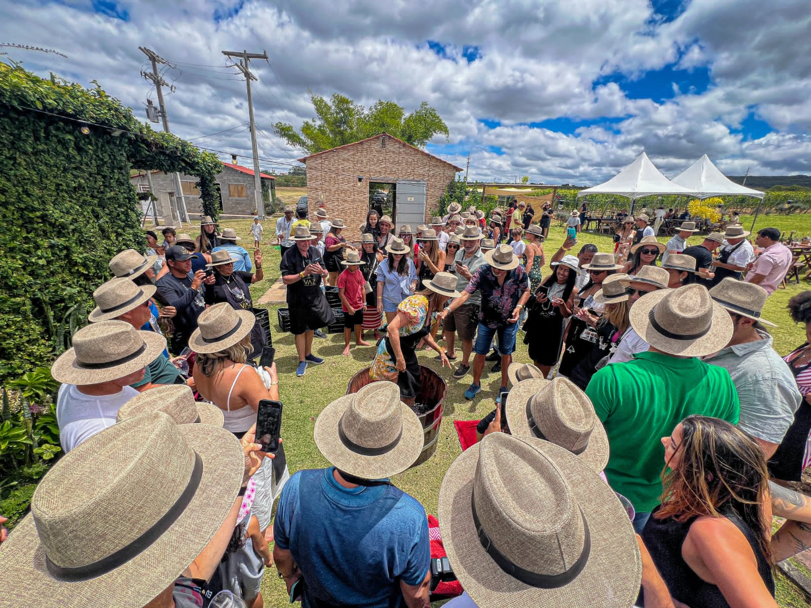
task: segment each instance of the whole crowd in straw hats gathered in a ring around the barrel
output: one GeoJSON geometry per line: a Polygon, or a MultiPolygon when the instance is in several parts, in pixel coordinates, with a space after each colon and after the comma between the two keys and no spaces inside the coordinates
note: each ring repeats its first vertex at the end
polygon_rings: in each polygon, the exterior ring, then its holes
{"type": "MultiPolygon", "coordinates": [[[[615,250],[575,251],[584,205],[543,276],[551,206],[510,207],[452,203],[414,230],[375,210],[354,243],[324,208],[284,209],[296,376],[324,363],[327,288],[343,354],[352,332],[376,340],[371,382],[315,419],[330,466],[292,476],[283,443],[255,440],[260,401],[279,399],[275,363],[253,364],[268,337],[249,289],[264,277],[258,218],[252,259],[208,217],[196,239],[153,233],[147,255],[116,255],[52,366],[66,454],[31,513],[0,526],[5,597],[188,608],[226,593],[261,608],[275,566],[303,606],[427,608],[453,577],[451,608],[777,606],[773,564],[811,547],[811,498],[787,487],[811,463],[811,330],[780,358],[762,317],[791,263],[779,231],[761,229],[757,250],[734,224],[689,244],[684,221],[664,245],[641,214],[615,250]],[[527,362],[513,362],[519,337],[527,362]],[[423,347],[471,375],[467,400],[487,361],[500,373],[430,531],[391,481],[423,449],[423,347]],[[774,534],[772,515],[786,518],[774,534]]],[[[789,310],[811,327],[811,291],[789,310]]]]}

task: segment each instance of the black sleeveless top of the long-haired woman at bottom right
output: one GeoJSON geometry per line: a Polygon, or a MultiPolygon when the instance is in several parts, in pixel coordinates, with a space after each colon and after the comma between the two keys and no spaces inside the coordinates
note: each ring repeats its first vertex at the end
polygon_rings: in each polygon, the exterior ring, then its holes
{"type": "MultiPolygon", "coordinates": [[[[721,590],[716,585],[702,580],[681,556],[681,546],[690,531],[690,526],[697,518],[691,517],[683,524],[672,517],[658,520],[656,512],[660,508],[661,505],[650,514],[650,520],[642,530],[642,540],[650,551],[650,557],[653,558],[656,567],[659,568],[659,573],[673,599],[684,602],[690,608],[729,608],[729,602],[723,597],[721,590]]],[[[719,511],[746,537],[757,559],[757,572],[766,584],[766,589],[769,589],[769,593],[774,597],[775,580],[769,562],[757,544],[755,532],[729,505],[724,505],[719,511]]]]}

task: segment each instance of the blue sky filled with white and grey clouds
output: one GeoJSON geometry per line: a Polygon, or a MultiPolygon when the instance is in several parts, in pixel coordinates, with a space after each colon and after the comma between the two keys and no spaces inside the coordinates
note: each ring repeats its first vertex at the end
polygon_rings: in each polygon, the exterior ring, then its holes
{"type": "Polygon", "coordinates": [[[154,50],[172,63],[172,131],[239,154],[245,83],[221,50],[267,50],[251,64],[264,169],[303,156],[272,125],[312,118],[311,91],[427,101],[450,130],[428,151],[460,166],[470,152],[471,179],[594,184],[642,150],[668,177],[704,153],[727,174],[811,173],[809,0],[0,0],[0,14],[0,41],[67,55],[6,60],[97,79],[139,119],[156,96],[138,47],[154,50]]]}

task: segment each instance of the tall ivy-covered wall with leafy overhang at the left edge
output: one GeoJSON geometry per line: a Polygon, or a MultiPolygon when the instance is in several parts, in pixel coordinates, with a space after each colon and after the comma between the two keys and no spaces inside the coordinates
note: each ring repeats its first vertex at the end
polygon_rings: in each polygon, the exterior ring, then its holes
{"type": "Polygon", "coordinates": [[[109,259],[144,250],[133,167],[199,176],[217,216],[216,156],[152,131],[98,86],[0,63],[0,381],[49,365],[55,326],[89,310],[109,259]]]}

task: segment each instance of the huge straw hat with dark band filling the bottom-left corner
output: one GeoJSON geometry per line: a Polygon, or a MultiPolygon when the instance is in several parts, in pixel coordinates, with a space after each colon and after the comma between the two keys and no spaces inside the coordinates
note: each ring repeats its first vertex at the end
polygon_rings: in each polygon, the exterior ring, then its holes
{"type": "Polygon", "coordinates": [[[140,608],[204,550],[242,484],[230,431],[162,412],[110,426],[43,477],[2,544],[4,602],[140,608]],[[138,581],[116,593],[123,580],[138,581]]]}

